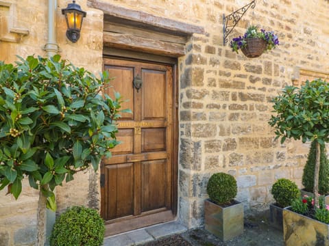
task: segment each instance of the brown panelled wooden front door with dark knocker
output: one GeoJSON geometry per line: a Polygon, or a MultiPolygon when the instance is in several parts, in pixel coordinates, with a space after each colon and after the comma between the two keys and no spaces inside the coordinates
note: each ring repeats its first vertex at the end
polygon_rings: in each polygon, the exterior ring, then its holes
{"type": "Polygon", "coordinates": [[[106,236],[175,217],[173,170],[173,67],[123,59],[104,59],[112,88],[126,102],[119,146],[101,163],[101,215],[106,236]]]}

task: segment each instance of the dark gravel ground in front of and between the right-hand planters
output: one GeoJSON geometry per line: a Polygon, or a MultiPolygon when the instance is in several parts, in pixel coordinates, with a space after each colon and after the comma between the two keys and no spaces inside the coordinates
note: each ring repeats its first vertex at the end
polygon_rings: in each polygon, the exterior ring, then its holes
{"type": "MultiPolygon", "coordinates": [[[[245,217],[244,232],[223,243],[204,228],[159,239],[144,246],[282,246],[283,233],[269,225],[268,211],[245,217]]],[[[297,245],[296,245],[297,246],[297,245]]]]}

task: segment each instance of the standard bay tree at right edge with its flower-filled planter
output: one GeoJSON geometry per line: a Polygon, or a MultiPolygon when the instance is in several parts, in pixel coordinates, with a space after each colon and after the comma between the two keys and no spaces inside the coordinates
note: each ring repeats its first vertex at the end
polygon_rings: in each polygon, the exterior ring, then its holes
{"type": "Polygon", "coordinates": [[[315,79],[306,81],[302,87],[287,86],[273,102],[276,115],[271,116],[269,124],[276,129],[277,137],[282,137],[281,143],[287,138],[314,141],[316,150],[314,198],[296,200],[292,204],[293,210],[284,208],[284,242],[288,246],[301,242],[304,245],[329,245],[329,210],[319,204],[321,146],[329,141],[329,84],[315,79]]]}

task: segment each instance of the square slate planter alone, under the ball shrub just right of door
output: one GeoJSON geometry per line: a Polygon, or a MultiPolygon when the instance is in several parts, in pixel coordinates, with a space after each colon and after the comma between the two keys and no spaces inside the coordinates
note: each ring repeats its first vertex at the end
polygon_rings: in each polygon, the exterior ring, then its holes
{"type": "Polygon", "coordinates": [[[208,232],[227,241],[243,233],[243,204],[222,207],[210,200],[204,202],[204,227],[208,232]]]}

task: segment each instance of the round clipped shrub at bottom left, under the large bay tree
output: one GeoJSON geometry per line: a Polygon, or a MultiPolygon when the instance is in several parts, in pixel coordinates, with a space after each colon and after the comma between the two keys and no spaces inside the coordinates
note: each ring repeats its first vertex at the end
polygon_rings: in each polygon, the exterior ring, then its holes
{"type": "Polygon", "coordinates": [[[104,221],[97,210],[73,206],[56,219],[50,245],[99,246],[103,243],[104,232],[104,221]]]}

